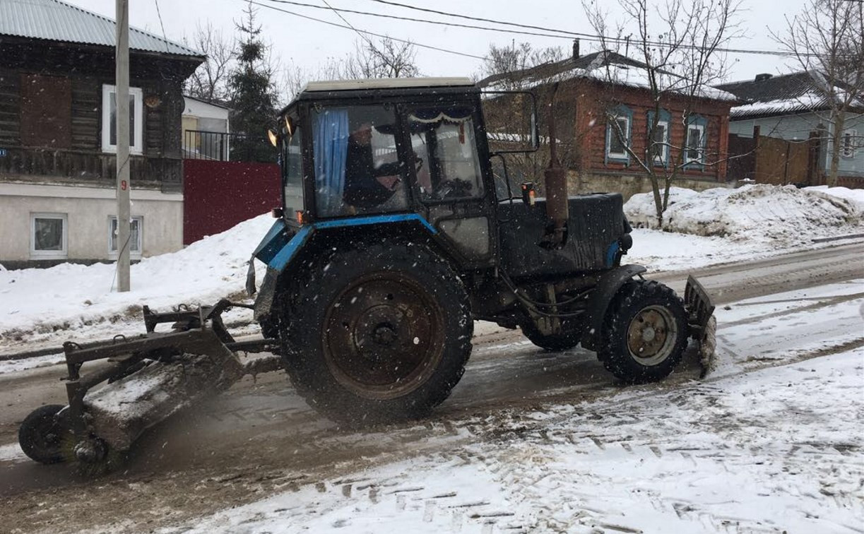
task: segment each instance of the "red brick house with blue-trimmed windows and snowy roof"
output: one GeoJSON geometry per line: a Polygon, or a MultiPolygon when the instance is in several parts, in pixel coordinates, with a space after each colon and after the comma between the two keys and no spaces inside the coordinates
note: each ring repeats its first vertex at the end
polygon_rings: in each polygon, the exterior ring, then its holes
{"type": "MultiPolygon", "coordinates": [[[[516,87],[536,93],[543,137],[548,116],[546,95],[553,84],[558,84],[556,139],[559,157],[569,171],[571,193],[611,191],[627,199],[650,191],[645,168],[634,161],[627,148],[643,161],[651,159],[655,167],[670,170],[677,166],[675,184],[679,187],[725,187],[728,116],[736,103],[734,96],[708,86],[697,87],[695,96],[674,88],[660,92],[660,117],[650,143],[656,108],[647,72],[645,63],[604,50],[493,75],[480,80],[479,85],[487,90],[516,87]],[[649,144],[655,150],[653,157],[647,155],[649,144]]],[[[664,79],[683,80],[668,72],[658,74],[664,79]]],[[[679,85],[689,85],[683,82],[679,85]]],[[[491,131],[490,139],[496,135],[491,131]]]]}

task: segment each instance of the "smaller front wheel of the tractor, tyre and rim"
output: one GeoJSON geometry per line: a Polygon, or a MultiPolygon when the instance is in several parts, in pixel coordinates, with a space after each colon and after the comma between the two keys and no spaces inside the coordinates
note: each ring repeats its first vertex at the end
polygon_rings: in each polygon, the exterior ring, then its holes
{"type": "Polygon", "coordinates": [[[687,347],[687,315],[675,291],[653,280],[621,286],[607,309],[598,358],[630,384],[665,378],[687,347]]]}

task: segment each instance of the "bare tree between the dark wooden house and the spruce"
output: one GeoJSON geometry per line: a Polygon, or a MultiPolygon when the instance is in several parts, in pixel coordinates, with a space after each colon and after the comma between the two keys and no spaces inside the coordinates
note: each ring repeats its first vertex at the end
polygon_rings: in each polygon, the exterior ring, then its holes
{"type": "Polygon", "coordinates": [[[195,27],[191,46],[206,55],[206,61],[186,80],[184,91],[208,102],[226,101],[229,73],[237,59],[234,41],[207,22],[195,27]]]}

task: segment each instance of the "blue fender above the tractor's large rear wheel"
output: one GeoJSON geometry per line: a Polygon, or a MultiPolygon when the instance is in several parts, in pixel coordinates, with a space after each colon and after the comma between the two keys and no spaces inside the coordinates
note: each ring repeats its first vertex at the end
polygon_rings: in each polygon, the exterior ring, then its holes
{"type": "Polygon", "coordinates": [[[410,224],[420,228],[420,231],[435,235],[438,231],[417,213],[393,213],[391,215],[368,215],[348,217],[345,219],[324,220],[301,226],[299,229],[288,226],[283,219],[278,219],[270,231],[261,240],[249,260],[250,268],[246,275],[246,289],[250,294],[255,289],[255,259],[267,264],[264,281],[255,299],[255,318],[268,317],[273,311],[276,291],[282,286],[283,276],[289,274],[297,259],[302,257],[302,251],[309,241],[317,234],[338,229],[358,228],[362,226],[390,226],[410,224]]]}

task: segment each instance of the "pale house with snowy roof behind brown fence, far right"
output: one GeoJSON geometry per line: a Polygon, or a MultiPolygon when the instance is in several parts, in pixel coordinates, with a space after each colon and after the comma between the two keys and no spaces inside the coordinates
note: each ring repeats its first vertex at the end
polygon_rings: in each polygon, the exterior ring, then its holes
{"type": "MultiPolygon", "coordinates": [[[[816,71],[717,86],[742,102],[729,113],[736,174],[765,183],[821,185],[831,165],[834,129],[828,80],[816,71]]],[[[836,86],[844,92],[842,86],[836,86]]],[[[837,185],[864,188],[864,102],[844,114],[837,185]]]]}

